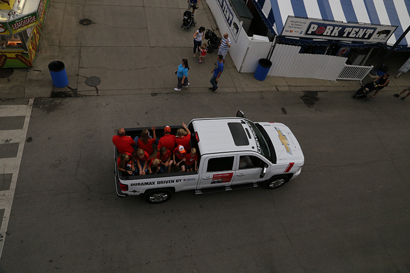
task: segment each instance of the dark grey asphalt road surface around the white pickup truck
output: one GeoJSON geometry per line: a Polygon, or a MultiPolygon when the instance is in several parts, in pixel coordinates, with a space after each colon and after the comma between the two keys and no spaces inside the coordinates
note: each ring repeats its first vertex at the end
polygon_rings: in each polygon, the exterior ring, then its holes
{"type": "Polygon", "coordinates": [[[409,272],[410,100],[323,92],[307,107],[303,95],[35,99],[0,271],[409,272]],[[116,129],[238,109],[291,128],[297,179],[156,205],[116,196],[116,129]]]}

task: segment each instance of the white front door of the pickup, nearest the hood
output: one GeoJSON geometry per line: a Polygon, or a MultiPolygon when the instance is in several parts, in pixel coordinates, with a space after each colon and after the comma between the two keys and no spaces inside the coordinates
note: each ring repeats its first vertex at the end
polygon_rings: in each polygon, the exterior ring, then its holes
{"type": "Polygon", "coordinates": [[[261,173],[264,166],[269,168],[271,164],[268,164],[256,155],[238,155],[237,157],[233,184],[258,182],[266,179],[264,177],[261,178],[261,173]]]}

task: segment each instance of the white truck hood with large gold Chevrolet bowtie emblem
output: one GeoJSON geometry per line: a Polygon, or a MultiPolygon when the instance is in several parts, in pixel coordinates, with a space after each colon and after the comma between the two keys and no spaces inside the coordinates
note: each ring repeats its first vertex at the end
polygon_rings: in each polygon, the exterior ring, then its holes
{"type": "Polygon", "coordinates": [[[304,162],[304,156],[295,135],[286,125],[258,122],[268,133],[276,152],[276,163],[304,162]]]}

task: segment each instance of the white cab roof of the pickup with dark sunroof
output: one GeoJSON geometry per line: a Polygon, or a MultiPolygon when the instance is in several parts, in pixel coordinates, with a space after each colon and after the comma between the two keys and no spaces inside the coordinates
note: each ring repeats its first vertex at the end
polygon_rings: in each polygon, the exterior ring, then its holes
{"type": "Polygon", "coordinates": [[[244,118],[211,118],[192,120],[199,138],[200,153],[253,151],[257,152],[256,140],[244,118]]]}

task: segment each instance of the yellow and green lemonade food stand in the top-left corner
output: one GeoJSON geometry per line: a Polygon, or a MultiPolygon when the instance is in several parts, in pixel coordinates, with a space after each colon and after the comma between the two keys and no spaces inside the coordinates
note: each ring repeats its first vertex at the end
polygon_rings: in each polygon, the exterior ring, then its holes
{"type": "Polygon", "coordinates": [[[33,67],[49,0],[0,0],[0,68],[33,67]]]}

